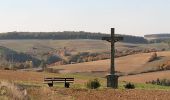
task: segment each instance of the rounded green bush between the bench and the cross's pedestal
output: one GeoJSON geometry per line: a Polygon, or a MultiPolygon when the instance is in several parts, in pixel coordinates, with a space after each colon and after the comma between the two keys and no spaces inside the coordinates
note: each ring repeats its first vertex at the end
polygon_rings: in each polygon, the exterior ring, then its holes
{"type": "Polygon", "coordinates": [[[96,79],[93,79],[93,80],[89,80],[86,84],[87,88],[89,89],[97,89],[101,86],[99,80],[96,78],[96,79]]]}

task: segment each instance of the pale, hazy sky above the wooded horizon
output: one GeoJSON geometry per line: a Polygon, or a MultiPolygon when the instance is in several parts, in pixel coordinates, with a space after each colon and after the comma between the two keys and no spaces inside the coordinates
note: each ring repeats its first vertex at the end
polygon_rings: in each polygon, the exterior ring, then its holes
{"type": "Polygon", "coordinates": [[[0,32],[170,33],[170,0],[0,0],[0,32]]]}

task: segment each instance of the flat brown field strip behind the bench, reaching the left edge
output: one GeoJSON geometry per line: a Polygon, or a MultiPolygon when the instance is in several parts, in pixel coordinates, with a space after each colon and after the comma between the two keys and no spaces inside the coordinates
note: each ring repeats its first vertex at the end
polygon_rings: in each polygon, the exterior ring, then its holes
{"type": "Polygon", "coordinates": [[[13,82],[28,82],[28,83],[38,83],[43,84],[45,77],[75,77],[76,84],[84,84],[89,78],[78,78],[75,75],[67,74],[54,74],[46,72],[31,72],[31,71],[11,71],[11,70],[0,70],[0,80],[7,80],[13,82]]]}

